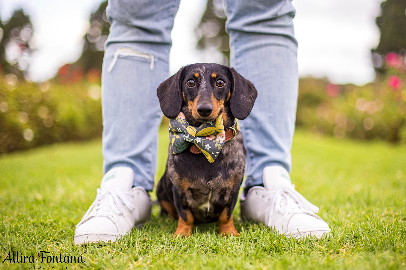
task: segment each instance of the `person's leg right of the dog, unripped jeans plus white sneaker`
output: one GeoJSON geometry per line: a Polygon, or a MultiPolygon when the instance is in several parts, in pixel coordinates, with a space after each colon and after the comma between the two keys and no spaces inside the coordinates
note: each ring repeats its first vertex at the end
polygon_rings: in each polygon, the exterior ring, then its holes
{"type": "Polygon", "coordinates": [[[241,215],[285,236],[326,234],[330,228],[315,214],[318,208],[289,177],[298,97],[295,9],[290,0],[226,1],[230,65],[258,91],[251,114],[240,121],[250,188],[241,215]]]}

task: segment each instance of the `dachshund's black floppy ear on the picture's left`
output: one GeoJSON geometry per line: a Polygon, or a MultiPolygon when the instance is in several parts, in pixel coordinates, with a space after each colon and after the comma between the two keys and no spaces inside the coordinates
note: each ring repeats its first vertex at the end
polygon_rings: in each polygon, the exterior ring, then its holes
{"type": "Polygon", "coordinates": [[[156,90],[161,110],[167,118],[174,118],[180,112],[182,106],[181,71],[162,82],[156,90]]]}

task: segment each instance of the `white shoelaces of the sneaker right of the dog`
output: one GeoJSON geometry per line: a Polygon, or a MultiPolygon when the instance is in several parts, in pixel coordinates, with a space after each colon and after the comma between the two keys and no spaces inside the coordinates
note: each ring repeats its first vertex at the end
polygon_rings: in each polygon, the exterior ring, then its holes
{"type": "Polygon", "coordinates": [[[272,196],[269,207],[268,226],[271,226],[271,217],[274,210],[280,214],[299,212],[313,214],[319,212],[319,208],[311,204],[305,197],[295,190],[295,185],[282,187],[276,191],[268,191],[262,197],[272,196]],[[282,209],[282,205],[285,207],[282,209]]]}

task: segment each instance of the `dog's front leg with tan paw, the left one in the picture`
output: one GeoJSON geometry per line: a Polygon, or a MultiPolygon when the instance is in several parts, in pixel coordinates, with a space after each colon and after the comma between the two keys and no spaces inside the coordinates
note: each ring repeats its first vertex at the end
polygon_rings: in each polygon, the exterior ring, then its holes
{"type": "Polygon", "coordinates": [[[176,187],[172,187],[173,202],[175,203],[176,210],[179,214],[178,227],[175,231],[175,237],[179,234],[182,237],[191,236],[193,231],[194,217],[182,200],[182,197],[177,191],[176,187]]]}

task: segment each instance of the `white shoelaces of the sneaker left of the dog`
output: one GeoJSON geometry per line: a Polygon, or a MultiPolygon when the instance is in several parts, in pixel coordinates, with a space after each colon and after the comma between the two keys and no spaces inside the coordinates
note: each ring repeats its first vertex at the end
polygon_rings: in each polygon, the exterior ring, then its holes
{"type": "Polygon", "coordinates": [[[127,198],[127,195],[133,196],[130,191],[124,192],[121,189],[108,189],[106,191],[97,189],[95,201],[93,201],[93,204],[76,227],[95,216],[106,216],[112,222],[114,222],[112,220],[113,213],[125,216],[123,206],[127,207],[130,211],[135,208],[134,204],[127,198]]]}

